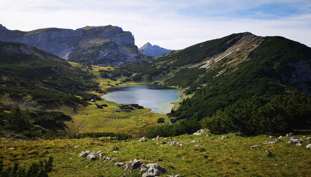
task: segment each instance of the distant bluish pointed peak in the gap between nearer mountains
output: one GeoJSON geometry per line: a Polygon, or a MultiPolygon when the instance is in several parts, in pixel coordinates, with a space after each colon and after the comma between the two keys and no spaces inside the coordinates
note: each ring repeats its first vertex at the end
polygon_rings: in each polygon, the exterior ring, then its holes
{"type": "Polygon", "coordinates": [[[165,49],[157,45],[152,46],[151,43],[149,42],[147,42],[145,45],[139,48],[139,53],[147,56],[160,56],[169,53],[171,51],[174,50],[165,49]]]}

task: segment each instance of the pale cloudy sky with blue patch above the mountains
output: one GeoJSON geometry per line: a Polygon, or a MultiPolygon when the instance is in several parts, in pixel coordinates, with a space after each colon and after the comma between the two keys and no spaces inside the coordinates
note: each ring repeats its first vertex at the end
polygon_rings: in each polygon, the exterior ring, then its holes
{"type": "Polygon", "coordinates": [[[0,0],[0,24],[11,30],[114,25],[135,44],[183,49],[232,33],[283,36],[311,46],[310,0],[0,0]]]}

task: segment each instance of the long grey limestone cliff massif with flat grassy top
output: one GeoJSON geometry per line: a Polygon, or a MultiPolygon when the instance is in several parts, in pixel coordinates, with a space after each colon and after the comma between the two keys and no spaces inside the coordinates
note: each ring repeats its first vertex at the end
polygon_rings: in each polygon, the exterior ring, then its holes
{"type": "Polygon", "coordinates": [[[0,24],[0,41],[25,43],[79,63],[118,65],[140,62],[132,33],[112,25],[25,32],[9,30],[0,24]]]}

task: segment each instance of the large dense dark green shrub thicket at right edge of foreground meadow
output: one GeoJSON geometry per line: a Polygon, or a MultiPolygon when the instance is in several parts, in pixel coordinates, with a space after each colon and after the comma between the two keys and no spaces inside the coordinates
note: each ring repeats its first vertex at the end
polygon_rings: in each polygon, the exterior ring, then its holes
{"type": "Polygon", "coordinates": [[[299,91],[270,98],[254,95],[201,120],[203,128],[244,134],[284,133],[311,128],[311,96],[299,91]]]}

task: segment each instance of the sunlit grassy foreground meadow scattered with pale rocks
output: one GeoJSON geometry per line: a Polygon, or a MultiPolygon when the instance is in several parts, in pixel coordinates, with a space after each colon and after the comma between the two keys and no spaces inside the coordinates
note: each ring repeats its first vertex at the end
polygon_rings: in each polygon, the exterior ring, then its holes
{"type": "MultiPolygon", "coordinates": [[[[310,176],[310,150],[306,137],[311,136],[309,131],[298,131],[295,136],[302,138],[303,145],[286,143],[289,137],[276,138],[275,144],[262,144],[269,139],[269,135],[242,137],[235,134],[226,134],[230,138],[221,139],[223,135],[214,135],[202,132],[202,135],[181,135],[164,140],[148,140],[138,142],[134,140],[117,141],[113,139],[59,139],[39,141],[10,141],[8,137],[1,140],[0,157],[5,167],[19,162],[21,166],[29,166],[31,162],[54,157],[51,177],[62,176],[142,176],[138,169],[124,171],[124,168],[114,165],[115,162],[126,162],[133,159],[142,159],[142,163],[159,163],[165,167],[166,175],[181,176],[310,176]],[[211,136],[206,137],[207,134],[211,136]],[[303,136],[306,137],[303,137],[303,136]],[[216,139],[210,139],[215,137],[216,139]],[[182,146],[157,144],[159,142],[183,142],[182,146]],[[192,143],[191,141],[197,141],[192,143]],[[124,143],[124,144],[121,144],[124,143]],[[75,146],[78,148],[74,148],[75,146]],[[250,146],[258,145],[258,148],[250,146]],[[196,147],[197,146],[197,147],[196,147]],[[9,148],[16,149],[9,149],[9,148]],[[113,153],[111,147],[118,147],[113,153]],[[103,159],[90,161],[78,155],[85,150],[103,151],[111,159],[111,163],[103,159]],[[265,153],[268,150],[272,156],[265,153]]],[[[278,135],[277,135],[278,136],[278,135]]]]}

